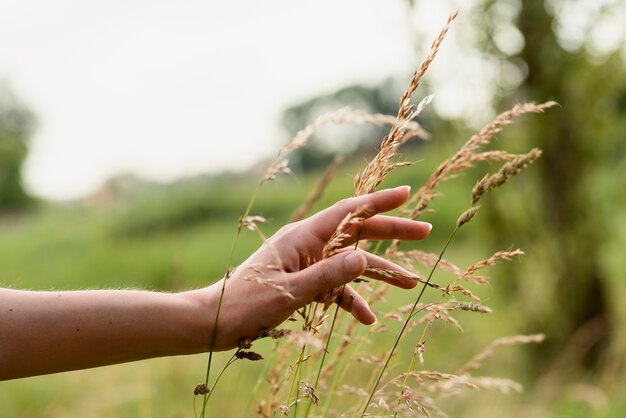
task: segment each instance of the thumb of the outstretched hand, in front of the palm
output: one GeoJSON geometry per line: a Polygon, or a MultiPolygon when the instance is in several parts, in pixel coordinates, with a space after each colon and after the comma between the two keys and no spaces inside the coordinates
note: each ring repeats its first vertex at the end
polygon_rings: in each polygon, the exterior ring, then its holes
{"type": "Polygon", "coordinates": [[[343,251],[330,258],[293,273],[292,294],[297,299],[310,301],[318,294],[343,286],[359,277],[367,266],[360,251],[343,251]]]}

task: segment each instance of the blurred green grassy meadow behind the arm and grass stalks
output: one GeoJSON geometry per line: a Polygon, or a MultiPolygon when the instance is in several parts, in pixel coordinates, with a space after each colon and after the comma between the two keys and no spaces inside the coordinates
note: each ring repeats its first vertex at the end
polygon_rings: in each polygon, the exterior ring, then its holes
{"type": "MultiPolygon", "coordinates": [[[[418,162],[397,170],[385,185],[410,184],[416,189],[454,146],[437,144],[411,151],[406,158],[418,162]]],[[[353,176],[361,165],[360,161],[352,161],[341,166],[316,208],[350,196],[353,176]]],[[[467,208],[471,186],[479,176],[478,172],[470,171],[446,183],[443,196],[433,203],[436,211],[422,218],[434,225],[431,237],[404,245],[438,252],[456,218],[467,208]]],[[[264,233],[269,235],[288,221],[307,193],[315,188],[318,177],[319,173],[283,176],[266,184],[252,211],[268,219],[261,226],[264,233]]],[[[523,177],[506,185],[501,201],[515,202],[524,195],[528,182],[523,177]]],[[[224,273],[237,219],[255,181],[243,176],[188,179],[138,188],[106,202],[42,203],[31,213],[4,218],[0,223],[0,282],[3,286],[26,289],[162,291],[210,284],[224,273]]],[[[484,204],[501,201],[487,200],[484,204]]],[[[514,212],[516,208],[523,210],[524,206],[512,205],[511,210],[514,212]]],[[[486,221],[479,215],[477,222],[458,236],[446,258],[465,266],[498,250],[492,248],[493,244],[482,233],[486,221]]],[[[621,221],[617,226],[624,236],[626,223],[623,218],[621,221]]],[[[516,237],[506,239],[511,248],[516,248],[516,237]]],[[[256,234],[244,232],[237,262],[258,245],[256,234]]],[[[606,268],[613,272],[626,267],[618,248],[616,243],[607,243],[606,268]]],[[[425,369],[453,372],[496,338],[542,331],[529,329],[526,322],[526,310],[532,309],[529,298],[535,298],[529,292],[540,291],[542,283],[547,281],[540,276],[545,271],[539,265],[541,260],[531,257],[527,255],[506,267],[491,268],[487,273],[492,277],[491,287],[475,290],[493,313],[461,312],[457,318],[464,326],[464,333],[443,324],[433,327],[425,369]],[[507,268],[521,270],[525,283],[507,281],[507,268]]],[[[447,277],[437,273],[434,280],[445,282],[447,277]]],[[[624,285],[616,282],[614,288],[614,300],[619,301],[626,293],[624,285]]],[[[433,300],[436,297],[430,295],[433,300]]],[[[390,292],[385,303],[377,305],[379,319],[387,309],[410,303],[413,298],[411,291],[390,292]]],[[[623,323],[623,311],[623,308],[615,309],[615,323],[623,323]]],[[[390,328],[397,327],[396,323],[384,319],[383,322],[390,328]]],[[[619,333],[620,339],[622,334],[619,333]]],[[[389,344],[389,336],[375,337],[374,346],[381,351],[388,350],[389,344]]],[[[209,416],[254,415],[265,393],[264,381],[259,376],[276,360],[272,346],[265,341],[256,343],[255,349],[266,357],[265,361],[237,362],[228,370],[211,399],[209,416]]],[[[620,357],[620,347],[622,343],[615,341],[614,358],[620,357]]],[[[561,349],[565,351],[568,347],[561,349]]],[[[400,347],[398,358],[410,357],[412,350],[410,344],[405,344],[400,347]]],[[[541,346],[504,347],[480,370],[480,375],[521,382],[526,386],[524,393],[468,389],[461,396],[442,399],[440,406],[451,416],[508,416],[511,408],[519,411],[516,416],[620,416],[626,403],[619,398],[624,379],[617,373],[611,373],[610,368],[583,373],[575,367],[560,373],[553,370],[558,366],[541,363],[541,351],[541,346]]],[[[218,364],[223,364],[229,356],[219,353],[218,364]]],[[[193,388],[203,380],[205,367],[206,356],[196,355],[0,382],[0,416],[190,417],[194,416],[193,388]]],[[[348,378],[362,379],[359,370],[358,364],[351,365],[348,378]]],[[[334,402],[339,406],[355,399],[346,395],[334,402]]]]}

